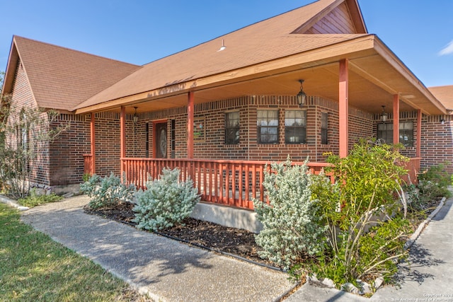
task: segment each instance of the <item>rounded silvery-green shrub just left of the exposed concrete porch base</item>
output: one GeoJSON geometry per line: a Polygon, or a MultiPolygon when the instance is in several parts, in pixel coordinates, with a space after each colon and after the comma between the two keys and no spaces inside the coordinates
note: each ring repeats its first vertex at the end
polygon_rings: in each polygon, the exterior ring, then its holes
{"type": "Polygon", "coordinates": [[[148,180],[147,190],[137,192],[134,207],[137,228],[157,231],[174,226],[190,216],[200,201],[193,181],[179,180],[180,171],[164,168],[160,178],[148,180]]]}

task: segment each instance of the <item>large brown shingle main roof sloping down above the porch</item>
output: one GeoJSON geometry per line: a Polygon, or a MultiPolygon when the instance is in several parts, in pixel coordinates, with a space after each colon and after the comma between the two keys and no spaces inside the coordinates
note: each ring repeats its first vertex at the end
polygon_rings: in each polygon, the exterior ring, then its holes
{"type": "Polygon", "coordinates": [[[292,34],[304,23],[342,2],[316,1],[151,62],[76,106],[76,109],[367,35],[292,34]],[[222,40],[226,49],[218,52],[222,40]]]}

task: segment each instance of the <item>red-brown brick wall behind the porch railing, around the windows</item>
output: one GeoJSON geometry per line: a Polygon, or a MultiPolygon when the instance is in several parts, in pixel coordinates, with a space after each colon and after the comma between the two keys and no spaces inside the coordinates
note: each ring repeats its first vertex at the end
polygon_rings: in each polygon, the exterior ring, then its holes
{"type": "MultiPolygon", "coordinates": [[[[338,153],[338,104],[331,100],[311,97],[304,106],[307,114],[306,144],[285,144],[285,110],[299,109],[293,96],[244,96],[229,100],[195,105],[195,120],[205,123],[205,139],[195,139],[194,157],[210,159],[284,161],[289,155],[293,161],[324,161],[326,152],[338,153]],[[280,138],[278,144],[258,144],[256,110],[278,109],[280,138]],[[239,144],[224,144],[225,112],[239,110],[239,144]],[[328,112],[328,144],[321,144],[321,112],[328,112]]],[[[134,139],[135,152],[145,156],[146,124],[149,123],[149,157],[153,156],[153,121],[168,121],[168,154],[170,154],[171,120],[176,121],[176,158],[187,154],[187,113],[185,108],[173,108],[139,115],[134,139]],[[137,147],[138,146],[138,147],[137,147]]],[[[372,137],[372,115],[355,108],[350,109],[350,146],[360,137],[372,137]]]]}

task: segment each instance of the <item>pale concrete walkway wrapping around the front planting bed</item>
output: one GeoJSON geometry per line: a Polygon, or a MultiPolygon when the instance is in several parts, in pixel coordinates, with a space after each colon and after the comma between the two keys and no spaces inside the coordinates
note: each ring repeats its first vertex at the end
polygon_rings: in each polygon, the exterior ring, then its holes
{"type": "MultiPolygon", "coordinates": [[[[22,219],[161,301],[278,301],[292,289],[287,275],[84,214],[86,197],[46,204],[22,219]]],[[[453,198],[411,247],[401,266],[401,288],[385,286],[372,298],[309,284],[297,301],[453,301],[453,198]]]]}

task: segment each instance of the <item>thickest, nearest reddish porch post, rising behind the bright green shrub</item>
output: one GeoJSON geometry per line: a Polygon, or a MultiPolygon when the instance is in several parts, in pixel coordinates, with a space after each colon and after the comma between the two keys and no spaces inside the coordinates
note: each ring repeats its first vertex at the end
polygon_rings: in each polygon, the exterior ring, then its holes
{"type": "Polygon", "coordinates": [[[340,134],[340,157],[348,156],[349,130],[348,130],[348,59],[340,60],[340,73],[338,83],[338,120],[340,134]]]}

